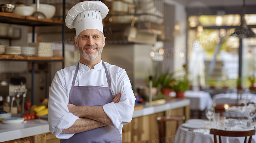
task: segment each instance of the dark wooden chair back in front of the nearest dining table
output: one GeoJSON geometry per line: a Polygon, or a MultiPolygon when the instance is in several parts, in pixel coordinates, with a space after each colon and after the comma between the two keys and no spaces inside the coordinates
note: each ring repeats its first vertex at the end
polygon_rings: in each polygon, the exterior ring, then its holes
{"type": "Polygon", "coordinates": [[[245,136],[244,143],[246,143],[247,136],[250,136],[249,140],[248,140],[248,143],[251,143],[251,138],[252,138],[252,135],[255,135],[255,130],[251,130],[251,131],[224,131],[224,130],[211,129],[210,134],[214,135],[214,143],[217,143],[216,135],[219,135],[219,143],[221,143],[221,136],[231,136],[231,137],[245,136]]]}

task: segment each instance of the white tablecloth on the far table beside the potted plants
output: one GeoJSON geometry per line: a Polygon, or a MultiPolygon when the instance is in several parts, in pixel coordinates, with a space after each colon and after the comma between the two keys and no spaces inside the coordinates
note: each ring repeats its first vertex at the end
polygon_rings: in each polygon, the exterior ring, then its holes
{"type": "Polygon", "coordinates": [[[186,91],[184,96],[190,99],[190,109],[203,111],[207,106],[212,106],[210,93],[204,91],[186,91]]]}

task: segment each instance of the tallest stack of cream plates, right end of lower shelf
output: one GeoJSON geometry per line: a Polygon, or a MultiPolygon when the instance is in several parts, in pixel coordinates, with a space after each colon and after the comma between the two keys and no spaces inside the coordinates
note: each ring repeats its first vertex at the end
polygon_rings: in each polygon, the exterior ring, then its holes
{"type": "Polygon", "coordinates": [[[38,57],[53,56],[52,43],[36,42],[36,43],[28,43],[28,46],[35,47],[37,49],[35,56],[38,56],[38,57]]]}

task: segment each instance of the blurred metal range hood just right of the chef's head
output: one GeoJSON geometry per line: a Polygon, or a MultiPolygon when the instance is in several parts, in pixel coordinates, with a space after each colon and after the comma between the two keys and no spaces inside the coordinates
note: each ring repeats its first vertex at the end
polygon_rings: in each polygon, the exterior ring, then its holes
{"type": "MultiPolygon", "coordinates": [[[[136,23],[136,34],[127,34],[131,30],[129,23],[109,23],[103,27],[104,35],[106,36],[106,43],[109,44],[154,44],[158,39],[165,39],[164,25],[145,22],[136,23]],[[128,31],[127,31],[128,30],[128,31]]],[[[134,32],[134,31],[132,31],[134,32]]]]}

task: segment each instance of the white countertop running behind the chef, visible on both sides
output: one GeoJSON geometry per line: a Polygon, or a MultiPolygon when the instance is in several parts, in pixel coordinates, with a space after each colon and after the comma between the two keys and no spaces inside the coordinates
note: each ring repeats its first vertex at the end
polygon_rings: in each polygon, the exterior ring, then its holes
{"type": "MultiPolygon", "coordinates": [[[[133,118],[146,116],[154,113],[159,113],[171,109],[177,109],[190,105],[189,99],[178,99],[174,98],[167,100],[165,104],[144,107],[140,110],[135,110],[133,113],[133,118]]],[[[28,136],[33,136],[37,134],[49,133],[49,126],[46,122],[38,123],[38,119],[29,120],[26,123],[17,124],[17,125],[7,125],[0,123],[0,142],[14,140],[18,138],[24,138],[28,136]]]]}

